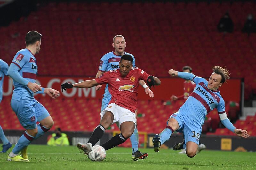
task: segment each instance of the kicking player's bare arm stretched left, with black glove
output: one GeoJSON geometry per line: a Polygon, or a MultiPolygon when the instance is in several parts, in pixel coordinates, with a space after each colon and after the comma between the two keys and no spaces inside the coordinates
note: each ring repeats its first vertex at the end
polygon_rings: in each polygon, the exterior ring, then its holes
{"type": "Polygon", "coordinates": [[[75,83],[75,84],[70,84],[70,83],[65,82],[64,84],[61,85],[61,90],[63,92],[63,90],[70,89],[70,88],[73,88],[73,87],[76,87],[76,88],[90,88],[90,87],[94,87],[96,85],[99,85],[99,83],[95,79],[85,80],[85,81],[75,83]]]}

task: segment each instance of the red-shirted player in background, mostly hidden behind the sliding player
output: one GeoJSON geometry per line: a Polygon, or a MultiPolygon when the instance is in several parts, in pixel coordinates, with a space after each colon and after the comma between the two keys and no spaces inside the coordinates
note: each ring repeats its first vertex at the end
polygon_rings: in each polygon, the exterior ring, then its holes
{"type": "MultiPolygon", "coordinates": [[[[184,67],[182,68],[182,70],[183,70],[183,72],[192,73],[192,68],[191,68],[190,66],[184,66],[184,67]]],[[[184,81],[184,88],[183,88],[184,94],[181,95],[181,96],[178,96],[178,97],[172,95],[172,96],[171,96],[171,101],[175,101],[175,100],[184,100],[184,102],[185,102],[185,100],[188,99],[188,97],[189,97],[190,94],[193,92],[193,90],[195,89],[195,87],[196,87],[196,84],[195,84],[193,81],[190,81],[190,80],[184,81]]],[[[183,139],[184,139],[184,136],[183,136],[183,139]]],[[[184,140],[183,142],[185,142],[185,140],[184,140]]],[[[179,150],[179,149],[180,149],[180,146],[183,144],[183,142],[182,142],[182,143],[179,143],[179,144],[175,144],[175,145],[173,146],[173,150],[179,150]]],[[[199,144],[198,144],[198,149],[197,149],[197,153],[199,153],[201,150],[203,150],[203,149],[205,149],[205,148],[206,148],[206,146],[205,146],[203,143],[199,142],[199,144]]],[[[182,149],[183,149],[183,148],[182,148],[182,149]]],[[[186,153],[186,150],[183,149],[183,150],[180,151],[179,153],[186,153]]]]}

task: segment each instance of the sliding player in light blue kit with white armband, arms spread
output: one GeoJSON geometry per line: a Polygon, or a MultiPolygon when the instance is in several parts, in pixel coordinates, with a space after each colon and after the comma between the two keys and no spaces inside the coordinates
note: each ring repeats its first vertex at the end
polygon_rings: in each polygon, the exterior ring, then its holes
{"type": "Polygon", "coordinates": [[[226,128],[237,136],[249,137],[246,130],[236,129],[233,126],[225,111],[225,102],[220,95],[219,87],[230,78],[227,69],[214,66],[208,81],[192,73],[177,72],[173,69],[169,70],[169,74],[191,80],[196,83],[196,87],[178,112],[171,115],[166,128],[159,135],[153,137],[155,152],[159,152],[161,144],[169,140],[171,134],[177,131],[184,133],[185,141],[174,145],[173,148],[175,150],[185,149],[188,157],[194,157],[205,116],[214,108],[217,108],[221,123],[226,128]]]}

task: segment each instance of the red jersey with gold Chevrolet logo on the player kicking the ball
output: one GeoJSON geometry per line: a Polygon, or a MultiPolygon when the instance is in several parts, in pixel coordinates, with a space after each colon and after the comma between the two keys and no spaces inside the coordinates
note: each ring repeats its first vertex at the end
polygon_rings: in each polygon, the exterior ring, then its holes
{"type": "Polygon", "coordinates": [[[123,77],[120,69],[109,70],[95,80],[99,84],[108,84],[109,93],[112,95],[110,103],[135,112],[137,108],[137,96],[139,81],[147,81],[149,74],[139,68],[133,68],[123,77]]]}

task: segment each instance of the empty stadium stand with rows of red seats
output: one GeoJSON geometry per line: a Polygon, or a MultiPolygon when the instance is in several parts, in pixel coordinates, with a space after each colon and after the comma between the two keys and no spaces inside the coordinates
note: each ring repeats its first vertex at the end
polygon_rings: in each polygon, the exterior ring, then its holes
{"type": "MultiPolygon", "coordinates": [[[[249,99],[251,93],[256,93],[253,71],[256,35],[241,33],[248,13],[255,13],[255,3],[51,2],[28,17],[0,27],[4,33],[0,39],[0,56],[10,64],[15,53],[24,48],[24,33],[37,30],[43,35],[41,51],[36,56],[39,75],[95,76],[100,57],[112,50],[113,36],[122,34],[127,42],[126,51],[132,53],[136,65],[149,74],[166,77],[171,67],[180,70],[190,65],[195,74],[208,77],[213,65],[225,65],[231,77],[244,78],[245,99],[249,99]],[[116,14],[117,8],[129,10],[116,14]],[[217,24],[227,10],[234,22],[234,32],[224,35],[217,32],[217,24]]],[[[63,127],[63,131],[92,131],[100,120],[100,100],[37,99],[51,113],[54,126],[63,127]]],[[[0,105],[0,124],[4,129],[23,129],[11,108],[5,107],[10,105],[10,100],[4,97],[0,105]]],[[[138,113],[145,114],[138,118],[140,131],[159,133],[165,125],[163,120],[180,106],[179,103],[164,106],[162,102],[139,101],[138,113]],[[149,105],[151,109],[147,109],[149,105]]],[[[236,119],[237,115],[227,109],[228,116],[236,119]]],[[[220,119],[216,110],[207,119],[204,132],[211,127],[213,131],[216,129],[214,134],[230,135],[227,129],[218,128],[220,119]]],[[[237,120],[235,125],[252,128],[252,135],[256,136],[255,116],[237,120]]]]}

